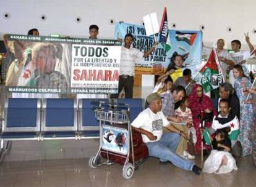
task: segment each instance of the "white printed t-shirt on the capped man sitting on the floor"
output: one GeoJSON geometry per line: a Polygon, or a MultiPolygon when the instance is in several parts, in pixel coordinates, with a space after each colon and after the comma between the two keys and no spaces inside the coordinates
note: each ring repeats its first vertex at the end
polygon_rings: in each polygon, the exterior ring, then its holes
{"type": "MultiPolygon", "coordinates": [[[[143,110],[132,122],[132,126],[141,128],[153,133],[157,138],[153,141],[158,141],[163,135],[163,126],[169,125],[168,119],[164,116],[163,112],[153,113],[150,108],[143,110]]],[[[146,135],[142,134],[142,139],[145,143],[153,142],[148,139],[146,135]]]]}

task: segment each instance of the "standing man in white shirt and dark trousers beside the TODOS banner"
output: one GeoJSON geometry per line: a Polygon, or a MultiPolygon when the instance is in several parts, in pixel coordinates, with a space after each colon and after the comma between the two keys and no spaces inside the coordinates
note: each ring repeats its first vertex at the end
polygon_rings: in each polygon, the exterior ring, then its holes
{"type": "Polygon", "coordinates": [[[135,62],[142,59],[143,57],[148,57],[158,44],[158,42],[155,42],[151,49],[143,53],[140,52],[139,49],[135,49],[134,47],[132,47],[133,41],[134,36],[132,36],[132,34],[130,33],[126,34],[126,36],[124,36],[124,46],[122,46],[121,52],[118,94],[120,94],[122,89],[124,88],[126,98],[132,98],[134,88],[135,62]]]}

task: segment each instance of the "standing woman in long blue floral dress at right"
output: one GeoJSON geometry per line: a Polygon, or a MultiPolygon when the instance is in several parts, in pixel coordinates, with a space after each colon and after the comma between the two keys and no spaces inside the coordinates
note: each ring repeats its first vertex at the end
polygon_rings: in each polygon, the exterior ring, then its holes
{"type": "MultiPolygon", "coordinates": [[[[250,141],[250,133],[252,133],[252,127],[254,127],[254,110],[250,103],[246,102],[247,89],[250,88],[251,82],[244,75],[244,71],[241,65],[235,65],[233,69],[234,78],[234,89],[236,95],[240,101],[240,134],[239,140],[242,144],[242,155],[247,156],[252,154],[252,142],[250,141]]],[[[249,99],[252,98],[250,95],[249,99]]]]}

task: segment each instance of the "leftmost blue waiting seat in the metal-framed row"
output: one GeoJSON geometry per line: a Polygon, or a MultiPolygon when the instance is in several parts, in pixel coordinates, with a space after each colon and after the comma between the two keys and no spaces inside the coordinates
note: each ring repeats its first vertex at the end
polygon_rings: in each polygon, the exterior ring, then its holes
{"type": "Polygon", "coordinates": [[[8,98],[4,105],[1,149],[7,151],[9,140],[40,140],[41,100],[8,98]],[[6,141],[4,148],[4,141],[6,141]]]}

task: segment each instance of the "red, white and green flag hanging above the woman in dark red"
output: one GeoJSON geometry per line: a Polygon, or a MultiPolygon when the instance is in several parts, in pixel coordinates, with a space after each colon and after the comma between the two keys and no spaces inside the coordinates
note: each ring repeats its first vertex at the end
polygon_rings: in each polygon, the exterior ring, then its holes
{"type": "Polygon", "coordinates": [[[223,82],[222,75],[219,73],[218,62],[216,58],[215,49],[212,49],[207,63],[200,70],[202,75],[200,82],[203,86],[203,90],[206,93],[216,89],[223,82]]]}

